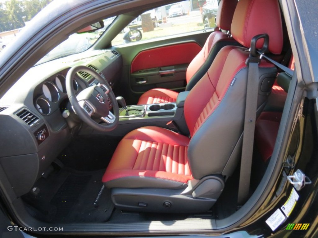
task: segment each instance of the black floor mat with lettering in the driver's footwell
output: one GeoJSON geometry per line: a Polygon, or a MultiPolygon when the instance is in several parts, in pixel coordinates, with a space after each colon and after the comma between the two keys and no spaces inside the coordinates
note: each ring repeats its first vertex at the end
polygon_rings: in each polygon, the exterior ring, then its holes
{"type": "Polygon", "coordinates": [[[39,220],[105,222],[112,214],[114,205],[110,191],[103,188],[103,173],[104,170],[79,172],[61,169],[46,179],[38,180],[35,184],[40,189],[37,196],[29,193],[22,198],[31,214],[39,220]]]}

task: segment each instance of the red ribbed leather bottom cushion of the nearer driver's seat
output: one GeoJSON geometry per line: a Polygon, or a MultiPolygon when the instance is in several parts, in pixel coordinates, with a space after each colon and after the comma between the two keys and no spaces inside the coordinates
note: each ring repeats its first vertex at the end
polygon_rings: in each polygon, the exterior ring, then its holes
{"type": "Polygon", "coordinates": [[[103,176],[108,188],[184,188],[193,179],[187,158],[190,139],[160,127],[129,132],[103,176]]]}

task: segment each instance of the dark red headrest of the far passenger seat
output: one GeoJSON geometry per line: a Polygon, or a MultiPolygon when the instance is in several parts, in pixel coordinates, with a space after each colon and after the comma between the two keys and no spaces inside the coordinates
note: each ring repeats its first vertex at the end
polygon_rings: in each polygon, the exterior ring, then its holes
{"type": "Polygon", "coordinates": [[[222,30],[231,30],[232,19],[238,0],[221,0],[215,23],[222,30]]]}

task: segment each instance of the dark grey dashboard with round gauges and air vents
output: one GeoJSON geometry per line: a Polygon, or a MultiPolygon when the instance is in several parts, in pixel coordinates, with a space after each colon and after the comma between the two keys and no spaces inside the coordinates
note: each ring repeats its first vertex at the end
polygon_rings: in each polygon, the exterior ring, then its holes
{"type": "MultiPolygon", "coordinates": [[[[0,100],[0,164],[17,196],[30,191],[80,128],[66,93],[66,75],[77,65],[98,72],[113,87],[121,78],[115,50],[92,50],[29,69],[0,100]],[[76,123],[77,122],[77,123],[76,123]]],[[[76,93],[97,84],[86,72],[73,78],[76,93]]]]}

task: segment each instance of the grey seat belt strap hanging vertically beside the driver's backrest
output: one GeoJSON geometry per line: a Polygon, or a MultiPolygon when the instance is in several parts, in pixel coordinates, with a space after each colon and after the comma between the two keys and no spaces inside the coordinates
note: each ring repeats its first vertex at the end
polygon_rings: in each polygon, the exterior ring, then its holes
{"type": "Polygon", "coordinates": [[[257,96],[259,88],[258,64],[258,62],[248,62],[244,134],[238,193],[238,203],[240,205],[246,201],[250,188],[257,96]]]}

